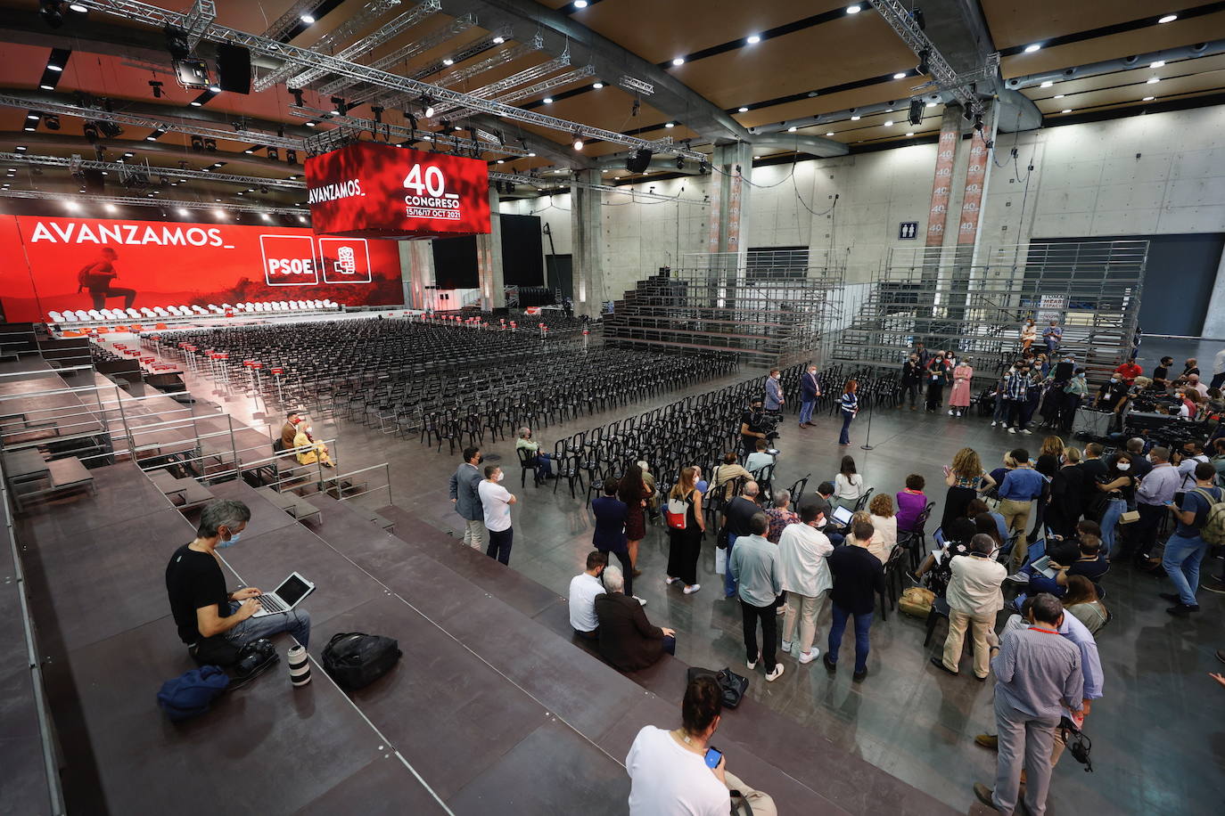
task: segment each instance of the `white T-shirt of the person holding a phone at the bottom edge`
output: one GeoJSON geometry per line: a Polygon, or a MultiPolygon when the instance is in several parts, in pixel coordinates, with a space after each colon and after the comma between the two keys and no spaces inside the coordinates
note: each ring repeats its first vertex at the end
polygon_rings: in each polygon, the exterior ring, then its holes
{"type": "Polygon", "coordinates": [[[669,732],[644,725],[625,757],[630,816],[728,816],[731,796],[706,760],[669,732]]]}

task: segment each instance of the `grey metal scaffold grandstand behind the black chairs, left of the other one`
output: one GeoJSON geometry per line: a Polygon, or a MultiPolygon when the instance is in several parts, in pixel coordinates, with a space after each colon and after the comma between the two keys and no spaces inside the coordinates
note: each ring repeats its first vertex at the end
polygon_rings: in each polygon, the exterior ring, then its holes
{"type": "Polygon", "coordinates": [[[823,360],[844,272],[835,256],[809,250],[686,254],[616,301],[604,338],[731,351],[757,365],[823,360]]]}

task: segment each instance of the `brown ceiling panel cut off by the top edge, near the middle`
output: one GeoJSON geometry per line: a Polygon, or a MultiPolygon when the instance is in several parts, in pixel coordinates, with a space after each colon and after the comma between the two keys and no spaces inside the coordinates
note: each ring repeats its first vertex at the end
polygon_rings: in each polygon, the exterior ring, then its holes
{"type": "MultiPolygon", "coordinates": [[[[699,4],[606,0],[577,11],[571,15],[571,20],[608,37],[644,60],[664,62],[675,56],[729,43],[846,4],[842,0],[805,2],[706,0],[699,4]]],[[[766,49],[771,44],[772,40],[767,40],[740,50],[766,49]]]]}

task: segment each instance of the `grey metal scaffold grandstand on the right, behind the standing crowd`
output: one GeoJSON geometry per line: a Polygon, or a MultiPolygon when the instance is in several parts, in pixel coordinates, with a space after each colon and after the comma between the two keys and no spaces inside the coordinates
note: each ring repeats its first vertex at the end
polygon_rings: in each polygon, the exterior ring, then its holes
{"type": "Polygon", "coordinates": [[[1148,241],[1044,241],[956,250],[893,248],[834,360],[900,365],[915,343],[973,356],[982,374],[1001,371],[1034,318],[1035,346],[1050,319],[1061,347],[1094,368],[1131,355],[1137,333],[1148,241]]]}

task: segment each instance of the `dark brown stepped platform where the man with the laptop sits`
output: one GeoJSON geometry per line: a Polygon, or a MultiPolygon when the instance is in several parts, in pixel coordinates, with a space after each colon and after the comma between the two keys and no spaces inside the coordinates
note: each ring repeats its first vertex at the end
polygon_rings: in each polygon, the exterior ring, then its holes
{"type": "MultiPolygon", "coordinates": [[[[192,663],[164,569],[196,516],[135,465],[92,472],[97,495],[17,520],[69,812],[157,801],[203,814],[224,790],[230,810],[624,814],[633,735],[679,722],[684,663],[620,674],[571,642],[565,598],[412,513],[380,510],[397,522],[392,536],[312,494],[322,519],[300,524],[234,481],[212,488],[252,510],[223,553],[233,585],[271,587],[298,570],[318,584],[305,604],[312,656],[336,632],[369,631],[396,637],[404,657],[352,696],[317,664],[293,689],[282,663],[174,725],[154,694],[192,663]]],[[[277,645],[284,652],[288,636],[277,645]]],[[[719,746],[783,814],[951,812],[751,699],[726,713],[719,746]]]]}

